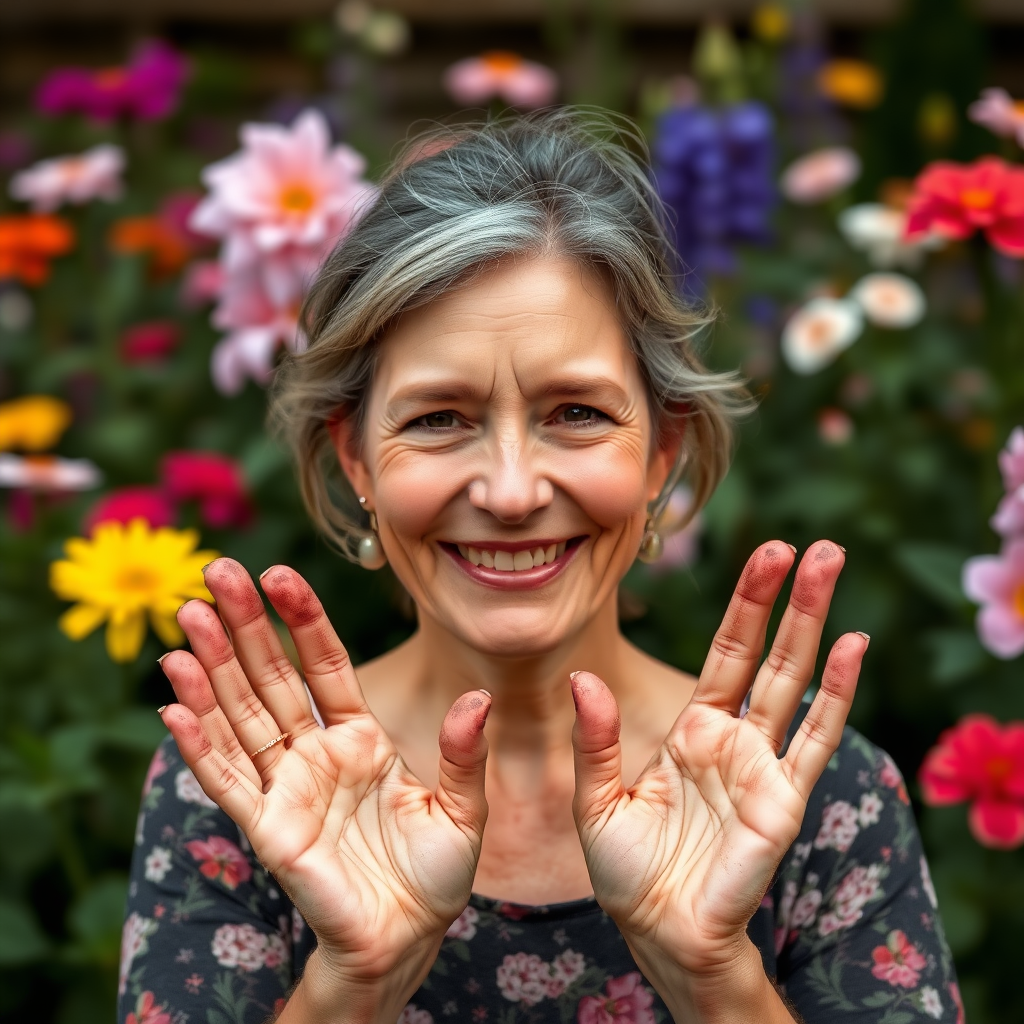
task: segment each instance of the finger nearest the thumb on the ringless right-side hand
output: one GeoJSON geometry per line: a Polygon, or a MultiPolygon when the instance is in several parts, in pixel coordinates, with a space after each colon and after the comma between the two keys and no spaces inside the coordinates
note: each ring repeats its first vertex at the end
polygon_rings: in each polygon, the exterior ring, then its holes
{"type": "Polygon", "coordinates": [[[781,541],[762,544],[751,555],[691,700],[738,713],[761,663],[771,609],[795,557],[796,549],[781,541]]]}

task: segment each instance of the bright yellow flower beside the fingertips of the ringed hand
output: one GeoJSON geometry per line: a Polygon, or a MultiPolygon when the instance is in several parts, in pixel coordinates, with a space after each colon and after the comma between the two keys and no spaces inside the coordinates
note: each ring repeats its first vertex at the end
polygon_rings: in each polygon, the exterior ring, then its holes
{"type": "Polygon", "coordinates": [[[196,551],[194,529],[153,529],[145,519],[100,523],[86,540],[65,543],[66,560],[50,565],[50,587],[57,597],[78,601],[58,623],[72,640],[81,640],[106,623],[106,652],[115,662],[138,656],[145,620],[169,647],[184,639],[175,617],[189,598],[213,602],[203,583],[203,566],[216,551],[196,551]]]}

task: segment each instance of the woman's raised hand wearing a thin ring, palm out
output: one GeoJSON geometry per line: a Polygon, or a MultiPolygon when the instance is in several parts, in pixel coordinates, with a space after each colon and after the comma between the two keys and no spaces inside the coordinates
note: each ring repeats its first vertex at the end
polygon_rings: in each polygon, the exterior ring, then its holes
{"type": "Polygon", "coordinates": [[[326,728],[245,569],[218,559],[206,583],[220,614],[202,601],[180,609],[195,654],[163,659],[180,701],[163,720],[207,795],[312,928],[341,987],[394,991],[394,1019],[469,899],[487,813],[489,696],[467,693],[449,712],[430,793],[370,713],[345,648],[298,573],[274,566],[261,584],[326,728]]]}

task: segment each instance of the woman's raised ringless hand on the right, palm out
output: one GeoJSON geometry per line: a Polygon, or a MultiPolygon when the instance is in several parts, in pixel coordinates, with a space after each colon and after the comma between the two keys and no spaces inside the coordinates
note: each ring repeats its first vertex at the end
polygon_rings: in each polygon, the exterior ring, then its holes
{"type": "Polygon", "coordinates": [[[826,541],[808,550],[761,664],[768,618],[794,559],[779,542],[751,557],[692,698],[629,790],[614,697],[596,676],[574,674],[577,826],[595,895],[645,972],[657,973],[659,956],[694,977],[723,972],[736,958],[839,745],[867,647],[863,634],[836,642],[821,687],[778,757],[814,672],[844,560],[826,541]],[[750,712],[740,718],[752,683],[750,712]]]}

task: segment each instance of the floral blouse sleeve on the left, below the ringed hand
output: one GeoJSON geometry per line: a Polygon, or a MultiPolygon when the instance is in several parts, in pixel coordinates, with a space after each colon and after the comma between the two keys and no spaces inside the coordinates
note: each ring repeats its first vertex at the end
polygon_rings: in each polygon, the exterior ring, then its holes
{"type": "Polygon", "coordinates": [[[293,920],[291,901],[167,737],[142,787],[119,1024],[260,1024],[294,981],[293,920]]]}

